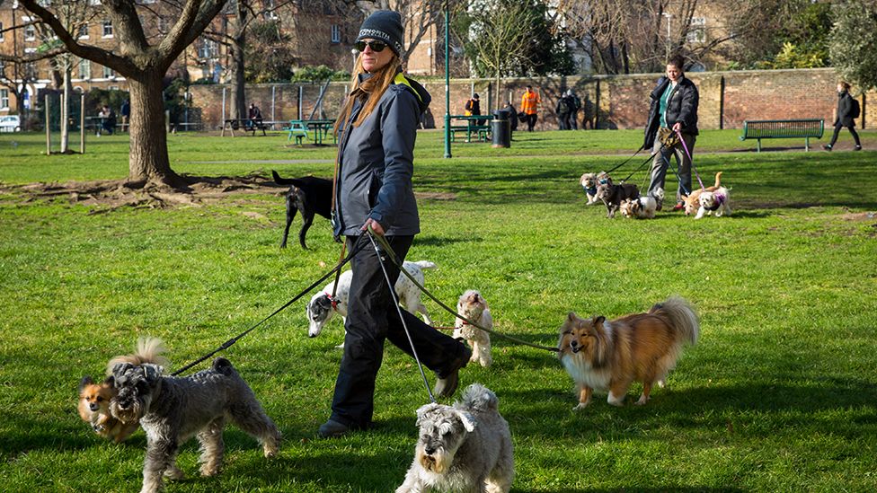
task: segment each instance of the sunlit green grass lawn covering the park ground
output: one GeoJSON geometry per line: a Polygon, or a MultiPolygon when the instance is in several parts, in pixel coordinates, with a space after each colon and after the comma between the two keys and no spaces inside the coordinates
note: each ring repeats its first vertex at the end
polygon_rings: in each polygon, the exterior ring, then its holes
{"type": "MultiPolygon", "coordinates": [[[[634,385],[624,408],[598,394],[574,412],[573,383],[554,355],[493,339],[492,367],[470,365],[461,377],[500,398],[516,447],[514,491],[877,489],[877,154],[757,154],[738,135],[698,139],[698,170],[704,181],[724,172],[734,207],[700,221],[670,212],[609,220],[605,207],[585,207],[580,174],[620,163],[641,132],[517,133],[507,150],[455,145],[452,160],[441,159],[438,132],[419,137],[422,233],[408,258],[438,264],[426,284],[446,304],[477,288],[496,330],[543,345],[556,343],[570,311],[616,317],[682,295],[701,316],[699,344],[644,407],[632,404],[634,385]]],[[[877,148],[877,134],[863,137],[877,148]]],[[[88,154],[49,157],[42,138],[0,134],[0,181],[128,172],[126,136],[90,137],[88,154]]],[[[286,136],[169,139],[177,172],[332,174],[334,147],[298,148],[286,136]]],[[[795,140],[766,142],[774,145],[802,151],[795,140]]],[[[66,198],[0,193],[4,491],[137,490],[143,432],[122,445],[95,436],[75,411],[79,380],[101,376],[143,335],[164,339],[174,368],[185,365],[286,303],[339,254],[319,217],[312,250],[296,241],[279,250],[279,195],[92,212],[66,198]]],[[[414,411],[428,401],[412,360],[387,346],[374,430],[317,439],[342,327],[332,321],[308,339],[306,326],[298,302],[223,353],[283,432],[279,457],[265,460],[229,427],[224,471],[200,478],[191,441],[179,457],[187,479],[168,491],[386,492],[402,482],[414,411]]]]}

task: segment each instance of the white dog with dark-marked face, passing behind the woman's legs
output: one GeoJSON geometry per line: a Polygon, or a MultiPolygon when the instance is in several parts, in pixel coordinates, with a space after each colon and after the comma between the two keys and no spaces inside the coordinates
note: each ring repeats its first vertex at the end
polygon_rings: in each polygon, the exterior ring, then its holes
{"type": "MultiPolygon", "coordinates": [[[[423,271],[426,269],[435,269],[436,264],[427,260],[421,260],[418,262],[406,261],[403,263],[403,267],[412,275],[412,277],[417,279],[417,282],[421,283],[422,286],[423,271]]],[[[325,326],[327,321],[332,320],[332,316],[334,316],[335,313],[340,314],[341,317],[346,320],[347,301],[350,298],[350,280],[352,278],[353,271],[348,270],[344,272],[341,274],[341,277],[338,278],[338,287],[335,289],[334,298],[332,298],[332,286],[335,284],[335,281],[333,280],[323,287],[322,292],[314,295],[311,298],[311,301],[308,302],[306,306],[308,337],[315,338],[320,335],[320,332],[323,331],[323,326],[325,326]]],[[[423,315],[423,321],[432,325],[430,315],[426,312],[426,306],[421,302],[421,290],[418,289],[417,286],[414,286],[411,279],[400,273],[399,279],[396,280],[394,289],[396,295],[399,297],[399,303],[405,307],[405,310],[408,310],[411,313],[421,313],[423,315]]]]}

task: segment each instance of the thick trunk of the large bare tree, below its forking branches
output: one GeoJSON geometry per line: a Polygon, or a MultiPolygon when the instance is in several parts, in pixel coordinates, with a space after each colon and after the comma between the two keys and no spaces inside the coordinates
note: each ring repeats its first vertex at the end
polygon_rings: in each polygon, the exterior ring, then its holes
{"type": "Polygon", "coordinates": [[[164,127],[164,96],[158,70],[128,77],[131,103],[128,181],[152,182],[184,188],[185,182],[171,169],[164,127]]]}

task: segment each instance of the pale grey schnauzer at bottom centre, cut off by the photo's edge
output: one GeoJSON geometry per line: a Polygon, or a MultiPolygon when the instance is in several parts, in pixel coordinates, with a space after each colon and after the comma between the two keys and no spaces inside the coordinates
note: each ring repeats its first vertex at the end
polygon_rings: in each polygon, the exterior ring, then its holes
{"type": "Polygon", "coordinates": [[[490,389],[473,383],[462,402],[417,409],[417,426],[421,437],[414,461],[396,493],[511,489],[515,459],[509,423],[490,389]]]}

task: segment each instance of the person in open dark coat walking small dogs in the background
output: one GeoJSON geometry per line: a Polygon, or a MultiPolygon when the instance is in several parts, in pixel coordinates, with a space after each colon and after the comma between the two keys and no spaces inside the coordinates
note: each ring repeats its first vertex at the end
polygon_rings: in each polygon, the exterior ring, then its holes
{"type": "Polygon", "coordinates": [[[676,193],[676,206],[673,210],[685,207],[682,196],[691,193],[691,156],[695,152],[697,136],[697,105],[700,96],[695,83],[685,76],[682,68],[685,62],[682,57],[673,57],[667,63],[667,75],[658,80],[658,85],[651,92],[649,119],[645,126],[644,149],[652,149],[655,159],[651,163],[651,183],[649,195],[658,200],[661,208],[658,189],[664,189],[664,179],[670,164],[670,155],[676,156],[678,165],[679,187],[676,193]],[[664,130],[661,130],[663,128],[664,130]],[[682,139],[674,145],[663,145],[658,138],[659,133],[677,135],[682,139]],[[659,152],[660,150],[660,152],[659,152]]]}

